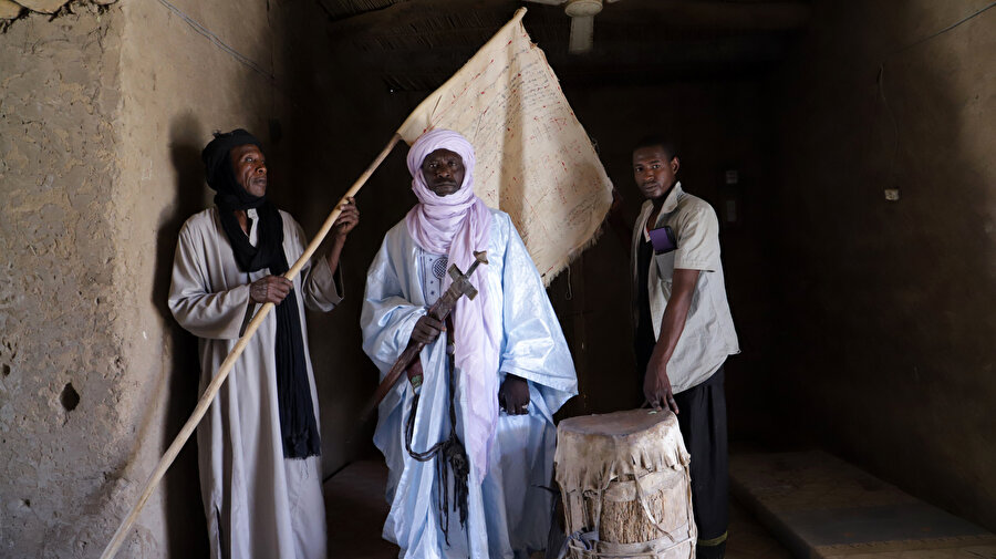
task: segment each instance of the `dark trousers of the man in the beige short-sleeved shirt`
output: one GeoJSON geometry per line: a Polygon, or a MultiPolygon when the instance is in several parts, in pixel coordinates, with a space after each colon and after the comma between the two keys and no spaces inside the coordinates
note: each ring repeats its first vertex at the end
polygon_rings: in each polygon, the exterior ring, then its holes
{"type": "Polygon", "coordinates": [[[674,395],[678,426],[692,455],[692,508],[698,527],[697,559],[723,557],[729,525],[726,394],[720,366],[697,386],[674,395]]]}

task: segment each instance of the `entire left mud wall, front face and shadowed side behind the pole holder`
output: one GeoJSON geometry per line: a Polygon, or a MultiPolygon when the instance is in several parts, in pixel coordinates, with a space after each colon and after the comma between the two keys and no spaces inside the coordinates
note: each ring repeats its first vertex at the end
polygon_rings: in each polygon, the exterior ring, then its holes
{"type": "MultiPolygon", "coordinates": [[[[0,28],[4,558],[98,557],[194,408],[197,342],[166,293],[179,228],[210,205],[210,132],[253,130],[274,165],[294,148],[274,37],[308,9],[102,3],[0,28]]],[[[204,525],[191,442],[118,557],[206,557],[204,525]]]]}

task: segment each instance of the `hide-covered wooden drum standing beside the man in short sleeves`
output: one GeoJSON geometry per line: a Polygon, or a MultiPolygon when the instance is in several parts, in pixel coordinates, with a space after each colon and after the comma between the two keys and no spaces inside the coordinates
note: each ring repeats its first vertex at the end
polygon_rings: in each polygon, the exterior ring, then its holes
{"type": "Polygon", "coordinates": [[[688,452],[673,413],[563,420],[553,462],[573,559],[695,557],[688,452]]]}

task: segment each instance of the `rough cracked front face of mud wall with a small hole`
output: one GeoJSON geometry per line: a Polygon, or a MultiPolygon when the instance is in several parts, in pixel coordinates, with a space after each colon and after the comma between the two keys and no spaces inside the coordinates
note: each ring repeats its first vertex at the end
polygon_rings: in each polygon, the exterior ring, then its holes
{"type": "Polygon", "coordinates": [[[131,452],[113,275],[121,19],[76,8],[0,35],[3,557],[92,556],[131,452]]]}

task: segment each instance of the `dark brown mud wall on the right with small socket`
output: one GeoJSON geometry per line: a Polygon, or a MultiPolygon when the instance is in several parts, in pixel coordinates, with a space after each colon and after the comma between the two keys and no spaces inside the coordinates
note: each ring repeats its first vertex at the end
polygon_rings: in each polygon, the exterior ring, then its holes
{"type": "Polygon", "coordinates": [[[817,4],[782,95],[777,385],[795,426],[994,529],[996,10],[968,3],[817,4]]]}

